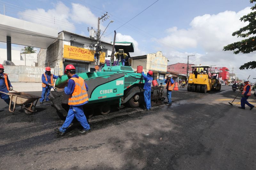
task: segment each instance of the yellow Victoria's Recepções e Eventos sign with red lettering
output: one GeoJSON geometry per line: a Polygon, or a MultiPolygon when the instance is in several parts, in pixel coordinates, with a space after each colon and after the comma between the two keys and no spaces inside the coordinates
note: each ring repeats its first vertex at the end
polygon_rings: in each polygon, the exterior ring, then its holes
{"type": "MultiPolygon", "coordinates": [[[[85,49],[85,48],[79,48],[69,45],[64,45],[64,58],[69,59],[75,59],[75,60],[83,60],[83,61],[94,61],[94,51],[85,49]]],[[[100,55],[100,63],[105,62],[105,53],[102,52],[100,55]]]]}

